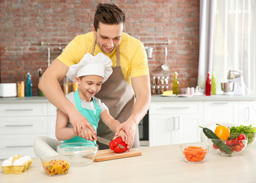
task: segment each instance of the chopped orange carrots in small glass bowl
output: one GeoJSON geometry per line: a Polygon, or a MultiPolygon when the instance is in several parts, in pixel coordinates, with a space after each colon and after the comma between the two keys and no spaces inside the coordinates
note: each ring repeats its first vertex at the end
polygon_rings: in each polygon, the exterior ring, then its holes
{"type": "Polygon", "coordinates": [[[185,159],[189,162],[202,162],[205,159],[207,149],[202,149],[201,146],[188,146],[183,150],[185,159]]]}

